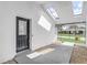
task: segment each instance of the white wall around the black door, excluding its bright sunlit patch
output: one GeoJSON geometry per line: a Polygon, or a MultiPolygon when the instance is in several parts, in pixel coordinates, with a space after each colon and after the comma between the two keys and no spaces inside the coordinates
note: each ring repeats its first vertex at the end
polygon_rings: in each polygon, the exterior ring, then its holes
{"type": "Polygon", "coordinates": [[[0,63],[12,58],[15,53],[15,17],[32,19],[32,46],[36,50],[52,43],[54,23],[35,2],[0,2],[0,63]],[[50,32],[42,29],[37,21],[45,15],[51,22],[50,32]]]}

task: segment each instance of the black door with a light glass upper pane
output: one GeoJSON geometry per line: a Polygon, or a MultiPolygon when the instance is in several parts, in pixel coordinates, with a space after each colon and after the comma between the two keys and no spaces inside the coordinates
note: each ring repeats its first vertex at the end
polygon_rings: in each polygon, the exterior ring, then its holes
{"type": "Polygon", "coordinates": [[[17,52],[29,48],[30,20],[17,17],[17,52]]]}

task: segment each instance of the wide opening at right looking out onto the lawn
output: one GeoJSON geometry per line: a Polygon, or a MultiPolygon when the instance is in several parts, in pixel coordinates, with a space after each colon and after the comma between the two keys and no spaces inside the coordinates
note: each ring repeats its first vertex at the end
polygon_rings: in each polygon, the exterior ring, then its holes
{"type": "Polygon", "coordinates": [[[57,25],[57,40],[68,45],[86,44],[86,23],[69,23],[57,25]]]}

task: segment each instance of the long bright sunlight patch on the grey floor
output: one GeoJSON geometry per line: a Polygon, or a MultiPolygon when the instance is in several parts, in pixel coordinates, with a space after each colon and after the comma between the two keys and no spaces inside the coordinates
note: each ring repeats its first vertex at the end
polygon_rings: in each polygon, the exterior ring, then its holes
{"type": "Polygon", "coordinates": [[[26,55],[29,58],[35,58],[35,57],[39,57],[41,55],[44,55],[44,54],[47,54],[50,52],[53,52],[55,48],[45,48],[45,50],[42,50],[40,52],[34,52],[34,53],[31,53],[29,55],[26,55]]]}

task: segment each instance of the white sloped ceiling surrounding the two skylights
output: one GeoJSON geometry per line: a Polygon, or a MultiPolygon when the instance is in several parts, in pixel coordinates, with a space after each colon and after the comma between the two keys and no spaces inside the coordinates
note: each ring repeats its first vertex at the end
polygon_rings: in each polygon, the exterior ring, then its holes
{"type": "Polygon", "coordinates": [[[36,3],[43,6],[45,9],[53,7],[59,17],[56,23],[80,22],[86,20],[86,1],[84,2],[83,14],[79,17],[74,17],[72,1],[36,1],[36,3]]]}

